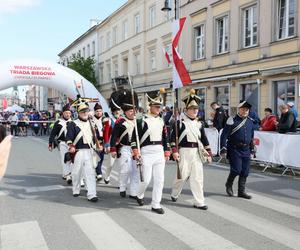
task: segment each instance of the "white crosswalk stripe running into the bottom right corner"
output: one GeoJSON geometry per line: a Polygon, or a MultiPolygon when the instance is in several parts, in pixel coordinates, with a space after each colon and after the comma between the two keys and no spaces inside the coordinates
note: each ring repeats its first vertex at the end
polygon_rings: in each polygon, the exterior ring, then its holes
{"type": "MultiPolygon", "coordinates": [[[[188,202],[192,201],[193,200],[188,200],[188,202]]],[[[244,212],[238,208],[226,205],[225,203],[211,198],[207,198],[206,201],[209,206],[210,213],[218,215],[232,223],[247,228],[248,230],[272,239],[292,249],[299,249],[300,232],[244,212]]]]}

